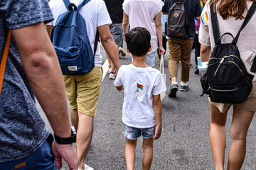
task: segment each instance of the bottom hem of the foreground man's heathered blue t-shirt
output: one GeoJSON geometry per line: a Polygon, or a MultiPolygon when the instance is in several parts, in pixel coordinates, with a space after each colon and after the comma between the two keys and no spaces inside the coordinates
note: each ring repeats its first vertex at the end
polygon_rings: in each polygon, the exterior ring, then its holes
{"type": "Polygon", "coordinates": [[[45,128],[45,130],[46,130],[45,136],[42,138],[41,142],[37,143],[38,145],[36,147],[34,147],[33,149],[30,149],[26,153],[20,154],[18,156],[15,155],[15,157],[5,157],[5,158],[0,157],[0,162],[16,161],[18,159],[26,158],[26,157],[30,156],[31,154],[35,153],[40,147],[42,147],[43,143],[46,142],[48,135],[50,135],[50,132],[46,128],[45,128]]]}

